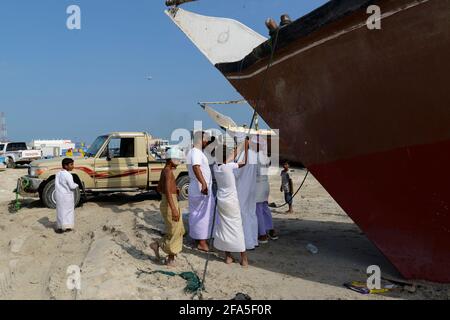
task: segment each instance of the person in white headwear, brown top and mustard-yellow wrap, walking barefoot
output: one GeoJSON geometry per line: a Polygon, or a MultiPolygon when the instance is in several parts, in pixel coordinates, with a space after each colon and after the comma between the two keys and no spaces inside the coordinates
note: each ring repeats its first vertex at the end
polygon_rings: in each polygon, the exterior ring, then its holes
{"type": "Polygon", "coordinates": [[[161,258],[159,254],[160,248],[168,255],[166,264],[169,267],[175,266],[175,257],[183,249],[183,236],[185,234],[181,210],[178,205],[180,190],[177,188],[173,174],[182,158],[183,153],[180,150],[172,148],[168,151],[166,166],[161,172],[158,183],[158,192],[162,195],[160,211],[166,224],[166,235],[150,245],[158,260],[161,258]]]}

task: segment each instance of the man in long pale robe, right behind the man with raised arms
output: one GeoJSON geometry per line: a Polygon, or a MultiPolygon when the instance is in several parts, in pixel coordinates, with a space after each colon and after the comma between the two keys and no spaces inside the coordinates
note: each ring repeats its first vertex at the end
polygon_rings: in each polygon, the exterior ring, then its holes
{"type": "MultiPolygon", "coordinates": [[[[245,137],[238,136],[237,141],[245,137]]],[[[234,170],[236,176],[236,188],[238,192],[239,205],[241,208],[242,224],[244,227],[245,247],[253,250],[258,247],[258,218],[256,217],[256,173],[258,155],[256,145],[249,144],[247,165],[234,170]]],[[[238,156],[237,162],[243,162],[244,152],[238,156]]]]}

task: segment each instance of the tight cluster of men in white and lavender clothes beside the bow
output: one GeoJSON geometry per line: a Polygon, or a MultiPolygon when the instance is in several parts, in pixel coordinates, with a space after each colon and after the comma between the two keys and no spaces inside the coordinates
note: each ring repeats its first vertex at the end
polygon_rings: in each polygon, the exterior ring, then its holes
{"type": "MultiPolygon", "coordinates": [[[[231,262],[230,254],[236,252],[231,249],[239,247],[236,247],[240,241],[237,234],[239,224],[245,242],[244,250],[239,251],[241,254],[255,249],[260,242],[267,243],[269,238],[277,239],[268,205],[270,186],[266,170],[269,160],[262,138],[254,137],[251,141],[247,138],[241,144],[240,152],[227,150],[226,146],[216,146],[225,157],[218,157],[216,152],[215,163],[211,164],[204,152],[210,143],[204,132],[197,134],[194,146],[187,155],[190,177],[189,235],[196,241],[197,249],[202,251],[210,250],[207,240],[213,235],[214,246],[225,251],[227,262],[231,262]],[[231,157],[227,157],[227,153],[231,157]],[[215,210],[218,214],[216,221],[213,221],[215,210]],[[212,230],[216,231],[212,233],[212,230]]],[[[241,264],[248,264],[245,255],[241,264]]]]}

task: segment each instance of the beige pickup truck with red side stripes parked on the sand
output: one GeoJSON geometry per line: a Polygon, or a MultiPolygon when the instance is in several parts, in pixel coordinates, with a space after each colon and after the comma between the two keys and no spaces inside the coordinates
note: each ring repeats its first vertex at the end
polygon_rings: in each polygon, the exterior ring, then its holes
{"type": "MultiPolygon", "coordinates": [[[[74,158],[74,181],[81,195],[156,190],[165,160],[150,153],[151,136],[145,132],[114,132],[99,136],[83,158],[74,158]]],[[[56,208],[55,175],[61,170],[61,158],[31,163],[28,175],[19,179],[20,193],[39,193],[48,208],[56,208]]],[[[185,164],[174,172],[180,189],[179,199],[187,200],[189,176],[185,164]]]]}

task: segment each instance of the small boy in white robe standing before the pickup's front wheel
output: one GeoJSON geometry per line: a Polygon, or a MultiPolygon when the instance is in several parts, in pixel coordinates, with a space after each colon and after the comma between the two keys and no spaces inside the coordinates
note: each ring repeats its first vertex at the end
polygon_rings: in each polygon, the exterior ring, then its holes
{"type": "Polygon", "coordinates": [[[75,226],[75,197],[74,191],[79,187],[73,181],[70,172],[73,170],[73,159],[62,161],[62,168],[55,177],[56,200],[56,233],[70,232],[75,226]]]}

